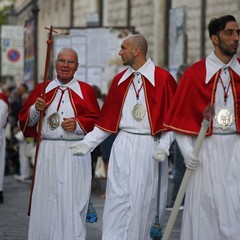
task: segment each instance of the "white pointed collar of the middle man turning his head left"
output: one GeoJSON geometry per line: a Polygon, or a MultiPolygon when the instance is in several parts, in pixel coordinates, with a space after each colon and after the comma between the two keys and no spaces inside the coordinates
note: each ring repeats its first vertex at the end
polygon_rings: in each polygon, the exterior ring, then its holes
{"type": "Polygon", "coordinates": [[[153,86],[155,86],[155,81],[154,81],[155,65],[150,58],[137,71],[133,70],[131,67],[128,67],[127,71],[121,77],[118,85],[124,82],[134,72],[140,72],[141,75],[143,75],[153,86]]]}

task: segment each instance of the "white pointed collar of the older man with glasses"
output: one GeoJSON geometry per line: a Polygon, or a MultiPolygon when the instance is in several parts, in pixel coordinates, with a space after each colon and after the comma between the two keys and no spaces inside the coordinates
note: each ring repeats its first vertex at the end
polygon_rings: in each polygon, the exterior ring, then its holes
{"type": "Polygon", "coordinates": [[[75,93],[77,93],[82,99],[83,99],[83,95],[82,95],[82,91],[80,88],[80,85],[78,84],[78,81],[76,78],[73,78],[69,83],[67,84],[61,84],[59,82],[59,80],[57,78],[55,78],[54,80],[52,80],[48,86],[46,87],[46,93],[53,90],[56,87],[59,86],[63,86],[63,87],[67,87],[70,88],[72,91],[74,91],[75,93]]]}

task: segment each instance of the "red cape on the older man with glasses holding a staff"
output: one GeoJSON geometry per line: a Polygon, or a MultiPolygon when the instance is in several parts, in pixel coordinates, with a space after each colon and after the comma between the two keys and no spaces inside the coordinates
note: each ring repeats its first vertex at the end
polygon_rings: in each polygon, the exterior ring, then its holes
{"type": "MultiPolygon", "coordinates": [[[[47,85],[50,81],[47,82],[47,85]]],[[[83,99],[77,95],[73,90],[68,88],[71,104],[75,113],[74,118],[81,126],[82,130],[87,133],[90,132],[96,122],[97,116],[99,114],[99,105],[96,99],[95,92],[93,88],[87,83],[78,81],[81,91],[83,94],[83,99]]],[[[46,103],[47,108],[52,103],[57,93],[58,87],[52,89],[46,93],[46,103]]],[[[20,128],[25,137],[36,137],[37,124],[33,127],[28,127],[29,112],[30,107],[35,103],[36,99],[40,97],[43,92],[43,83],[38,84],[28,99],[23,103],[22,109],[18,114],[20,128]]]]}

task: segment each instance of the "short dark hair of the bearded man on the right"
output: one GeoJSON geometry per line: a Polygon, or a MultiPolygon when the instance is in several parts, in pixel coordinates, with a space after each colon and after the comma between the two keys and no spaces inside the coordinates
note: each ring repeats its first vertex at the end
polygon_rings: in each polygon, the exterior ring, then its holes
{"type": "Polygon", "coordinates": [[[209,37],[222,31],[228,22],[236,22],[236,18],[232,15],[225,15],[219,18],[212,18],[208,24],[209,37]]]}

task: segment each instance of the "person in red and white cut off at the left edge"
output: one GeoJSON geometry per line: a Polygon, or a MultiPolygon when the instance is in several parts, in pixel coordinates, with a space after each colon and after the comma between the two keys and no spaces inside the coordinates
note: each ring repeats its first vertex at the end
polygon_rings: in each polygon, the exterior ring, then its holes
{"type": "Polygon", "coordinates": [[[5,126],[8,117],[8,98],[3,93],[0,85],[0,203],[4,202],[3,181],[5,172],[5,154],[6,154],[6,137],[5,126]]]}

